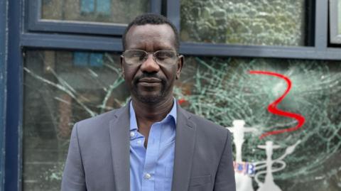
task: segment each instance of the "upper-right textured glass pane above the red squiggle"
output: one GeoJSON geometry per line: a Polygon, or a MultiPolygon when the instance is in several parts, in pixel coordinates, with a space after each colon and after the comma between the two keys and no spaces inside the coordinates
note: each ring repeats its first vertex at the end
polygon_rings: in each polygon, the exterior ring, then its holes
{"type": "Polygon", "coordinates": [[[305,0],[181,0],[183,41],[304,45],[305,0]]]}

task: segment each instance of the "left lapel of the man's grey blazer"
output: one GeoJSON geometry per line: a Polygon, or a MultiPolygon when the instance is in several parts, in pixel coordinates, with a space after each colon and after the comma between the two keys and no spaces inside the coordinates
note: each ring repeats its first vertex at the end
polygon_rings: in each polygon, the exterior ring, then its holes
{"type": "Polygon", "coordinates": [[[112,147],[112,166],[117,191],[130,190],[129,174],[129,104],[118,109],[110,121],[109,136],[112,147]]]}

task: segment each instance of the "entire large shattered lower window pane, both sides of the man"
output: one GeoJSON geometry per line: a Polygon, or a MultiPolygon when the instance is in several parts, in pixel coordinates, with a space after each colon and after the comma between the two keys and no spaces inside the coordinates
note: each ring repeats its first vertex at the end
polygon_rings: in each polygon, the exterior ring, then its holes
{"type": "MultiPolygon", "coordinates": [[[[244,142],[238,142],[243,138],[234,133],[234,153],[239,152],[234,154],[237,180],[257,190],[265,180],[268,157],[273,162],[272,170],[280,169],[267,177],[273,177],[273,185],[281,190],[340,190],[340,61],[185,60],[174,89],[181,106],[232,131],[243,127],[243,121],[244,128],[249,129],[244,133],[244,142]],[[303,126],[260,139],[266,132],[298,125],[292,117],[268,111],[269,104],[283,95],[289,82],[291,89],[278,109],[304,117],[303,126]],[[272,141],[273,153],[266,154],[266,141],[272,141]]],[[[60,190],[72,125],[121,107],[129,98],[118,68],[116,53],[26,52],[23,190],[60,190]]],[[[267,146],[270,148],[271,143],[267,146]]]]}

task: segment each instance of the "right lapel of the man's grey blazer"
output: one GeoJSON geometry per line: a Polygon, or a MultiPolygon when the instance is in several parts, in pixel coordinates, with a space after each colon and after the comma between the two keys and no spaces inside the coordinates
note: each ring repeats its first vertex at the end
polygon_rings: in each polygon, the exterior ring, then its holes
{"type": "Polygon", "coordinates": [[[179,104],[177,108],[172,191],[188,190],[196,133],[196,126],[190,120],[190,115],[179,104]]]}

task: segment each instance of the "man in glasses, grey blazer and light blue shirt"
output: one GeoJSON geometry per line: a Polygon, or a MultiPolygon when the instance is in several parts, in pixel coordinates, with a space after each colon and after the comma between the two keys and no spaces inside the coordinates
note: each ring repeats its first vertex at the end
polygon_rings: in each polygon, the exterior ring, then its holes
{"type": "Polygon", "coordinates": [[[138,16],[122,38],[131,102],[75,124],[62,190],[235,190],[227,129],[180,108],[178,32],[163,16],[138,16]]]}

